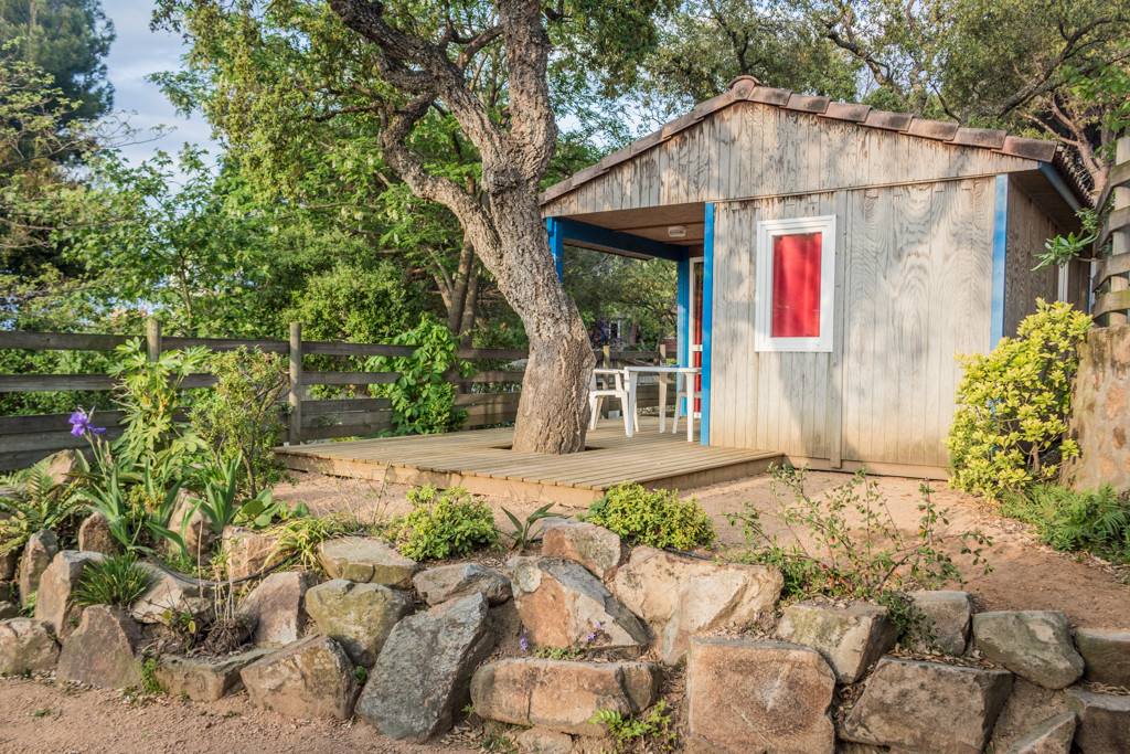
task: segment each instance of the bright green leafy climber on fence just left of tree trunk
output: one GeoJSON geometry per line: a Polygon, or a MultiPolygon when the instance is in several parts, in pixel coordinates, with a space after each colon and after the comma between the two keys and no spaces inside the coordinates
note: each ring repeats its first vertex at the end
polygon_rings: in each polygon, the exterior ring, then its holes
{"type": "Polygon", "coordinates": [[[393,384],[383,385],[383,393],[392,400],[395,434],[434,434],[461,427],[467,411],[455,407],[455,385],[447,376],[470,376],[473,369],[455,356],[459,344],[451,331],[425,314],[419,327],[391,343],[416,349],[411,356],[374,356],[367,369],[400,373],[393,384]]]}

